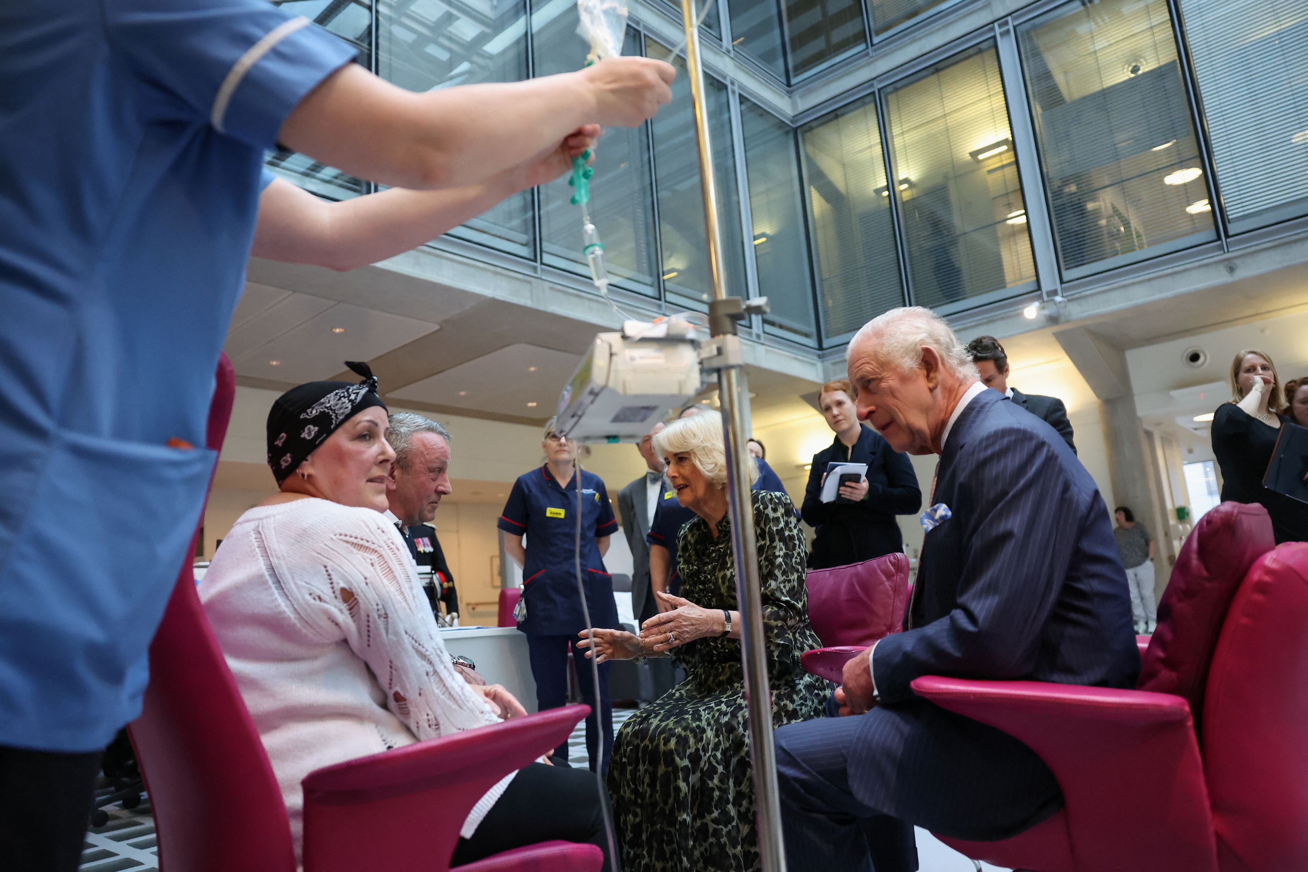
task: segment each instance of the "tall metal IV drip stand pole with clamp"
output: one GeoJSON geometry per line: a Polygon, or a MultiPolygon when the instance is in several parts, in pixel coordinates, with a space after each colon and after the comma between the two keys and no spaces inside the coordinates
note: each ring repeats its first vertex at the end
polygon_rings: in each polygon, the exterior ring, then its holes
{"type": "Polygon", "coordinates": [[[742,613],[742,662],[744,697],[749,716],[749,756],[753,762],[753,792],[757,809],[759,858],[763,872],[785,872],[786,855],[781,835],[781,801],[777,794],[777,754],[772,743],[772,692],[768,685],[768,651],[763,633],[763,594],[759,578],[759,550],[753,535],[753,507],[749,502],[749,455],[746,451],[746,421],[749,391],[736,322],[768,311],[768,299],[743,301],[727,297],[723,286],[722,233],[718,226],[718,190],[713,176],[713,149],[705,114],[704,68],[700,64],[700,33],[695,0],[681,0],[685,27],[685,67],[695,103],[695,139],[700,157],[700,190],[704,195],[704,226],[709,246],[709,275],[713,298],[709,302],[709,332],[715,354],[704,367],[718,373],[727,461],[727,512],[731,519],[731,556],[736,567],[736,600],[742,613]]]}

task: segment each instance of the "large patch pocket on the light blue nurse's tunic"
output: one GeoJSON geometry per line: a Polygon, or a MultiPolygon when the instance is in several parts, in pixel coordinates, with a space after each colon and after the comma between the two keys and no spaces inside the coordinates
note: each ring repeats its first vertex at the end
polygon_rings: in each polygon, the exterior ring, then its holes
{"type": "Polygon", "coordinates": [[[136,716],[216,459],[55,438],[0,579],[0,744],[92,750],[136,716]]]}

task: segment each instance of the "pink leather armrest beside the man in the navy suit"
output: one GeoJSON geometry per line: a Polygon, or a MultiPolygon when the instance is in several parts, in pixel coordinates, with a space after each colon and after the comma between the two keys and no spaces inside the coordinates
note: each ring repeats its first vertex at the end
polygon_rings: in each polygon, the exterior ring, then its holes
{"type": "Polygon", "coordinates": [[[1216,872],[1190,706],[1168,693],[923,676],[913,692],[1025,743],[1066,800],[1078,868],[1216,872]]]}

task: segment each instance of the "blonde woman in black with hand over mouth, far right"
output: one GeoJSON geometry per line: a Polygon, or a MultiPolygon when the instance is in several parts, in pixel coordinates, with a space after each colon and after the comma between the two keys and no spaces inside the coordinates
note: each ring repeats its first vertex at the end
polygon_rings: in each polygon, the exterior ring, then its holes
{"type": "Polygon", "coordinates": [[[1245,349],[1231,361],[1231,401],[1213,414],[1213,454],[1222,469],[1222,502],[1258,503],[1271,516],[1277,544],[1308,540],[1308,505],[1262,486],[1281,426],[1281,379],[1265,352],[1245,349]]]}

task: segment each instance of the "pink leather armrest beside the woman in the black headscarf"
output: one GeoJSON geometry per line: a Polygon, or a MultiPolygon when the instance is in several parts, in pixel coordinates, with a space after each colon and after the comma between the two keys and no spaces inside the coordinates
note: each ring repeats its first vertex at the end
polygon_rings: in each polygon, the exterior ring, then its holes
{"type": "Polygon", "coordinates": [[[305,872],[447,868],[477,800],[587,714],[589,706],[551,709],[310,773],[305,872]]]}

